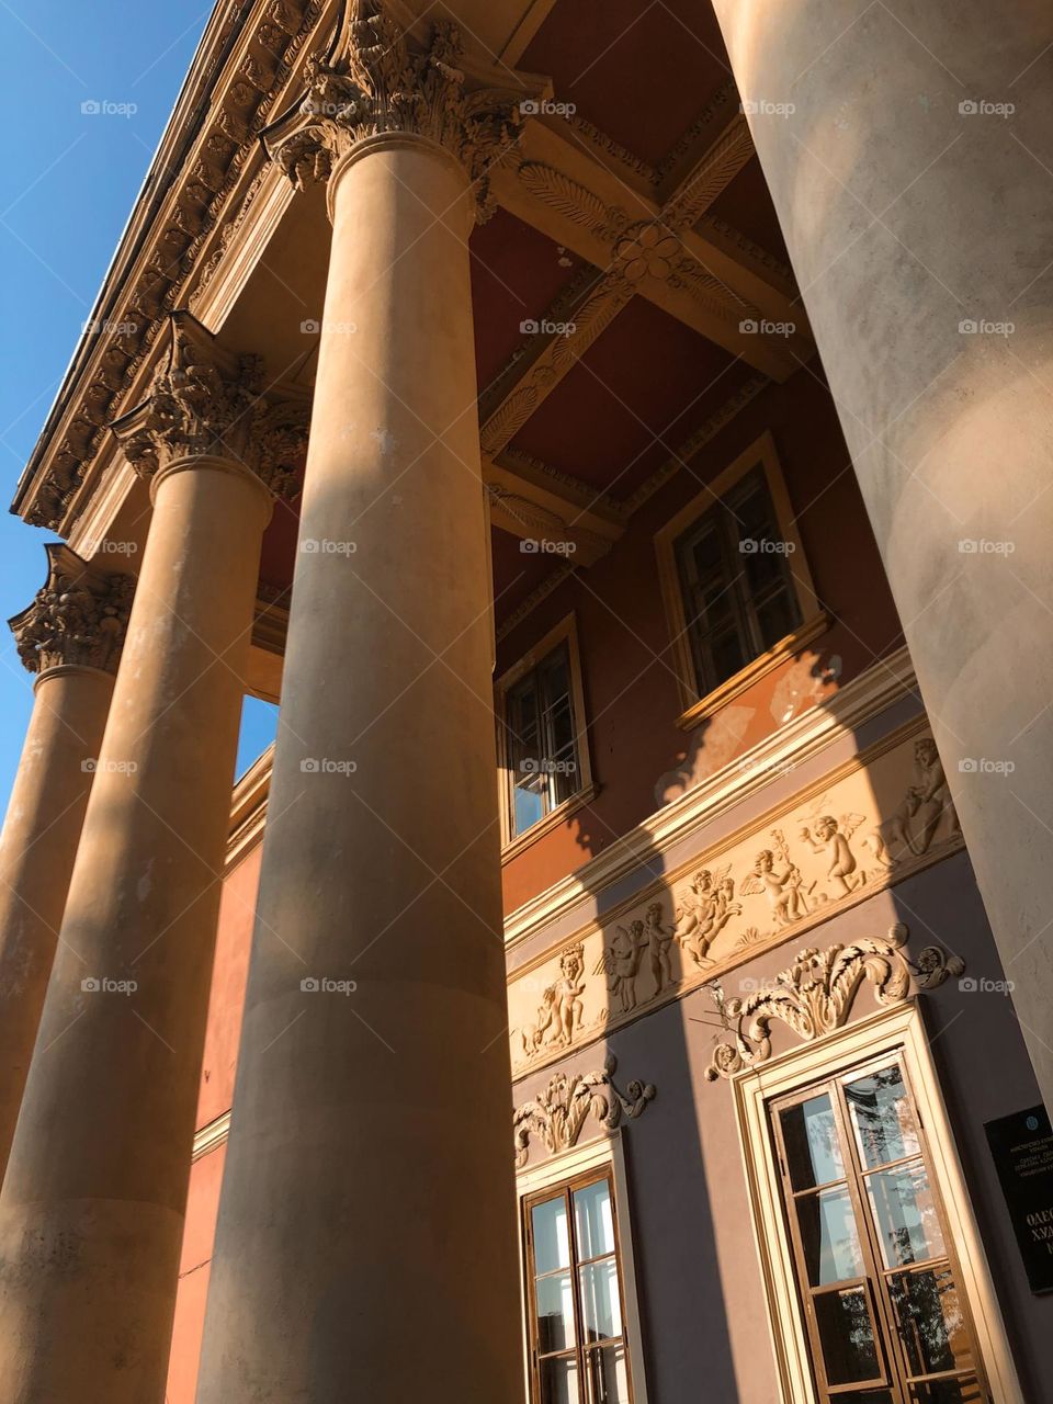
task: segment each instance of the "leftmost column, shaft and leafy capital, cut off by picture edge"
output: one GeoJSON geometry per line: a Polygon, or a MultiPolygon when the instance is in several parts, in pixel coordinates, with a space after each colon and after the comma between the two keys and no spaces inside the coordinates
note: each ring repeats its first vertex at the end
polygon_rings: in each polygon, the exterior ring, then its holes
{"type": "Polygon", "coordinates": [[[37,674],[0,840],[0,1181],[37,1040],[135,578],[53,543],[48,581],[10,621],[37,674]]]}

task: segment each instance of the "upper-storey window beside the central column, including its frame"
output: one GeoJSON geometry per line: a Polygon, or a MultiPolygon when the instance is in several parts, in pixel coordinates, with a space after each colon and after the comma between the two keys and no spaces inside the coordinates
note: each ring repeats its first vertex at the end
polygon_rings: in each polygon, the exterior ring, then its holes
{"type": "MultiPolygon", "coordinates": [[[[497,685],[504,842],[538,837],[550,816],[591,797],[573,616],[497,685]]],[[[557,821],[557,820],[553,820],[557,821]]]]}

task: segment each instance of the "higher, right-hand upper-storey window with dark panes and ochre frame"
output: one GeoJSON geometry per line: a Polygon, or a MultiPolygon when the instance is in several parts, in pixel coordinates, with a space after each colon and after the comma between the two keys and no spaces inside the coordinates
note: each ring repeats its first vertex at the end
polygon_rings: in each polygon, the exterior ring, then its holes
{"type": "Polygon", "coordinates": [[[673,658],[694,726],[826,626],[771,435],[656,538],[673,658]]]}

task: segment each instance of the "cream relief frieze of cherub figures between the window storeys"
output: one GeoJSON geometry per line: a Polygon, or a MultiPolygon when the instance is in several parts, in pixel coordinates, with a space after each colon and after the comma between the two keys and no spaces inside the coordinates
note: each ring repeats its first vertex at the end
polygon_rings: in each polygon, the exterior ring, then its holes
{"type": "Polygon", "coordinates": [[[510,976],[512,1074],[563,1057],[962,847],[924,719],[510,976]]]}

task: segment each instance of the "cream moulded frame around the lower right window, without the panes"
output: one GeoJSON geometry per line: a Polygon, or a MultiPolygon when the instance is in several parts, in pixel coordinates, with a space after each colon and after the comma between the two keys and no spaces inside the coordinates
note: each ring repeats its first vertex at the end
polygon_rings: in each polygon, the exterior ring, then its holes
{"type": "MultiPolygon", "coordinates": [[[[931,1189],[942,1210],[948,1254],[972,1325],[977,1375],[998,1404],[1025,1404],[924,1019],[914,1001],[861,1019],[816,1043],[774,1057],[761,1068],[744,1070],[731,1078],[781,1401],[821,1404],[821,1393],[813,1379],[809,1328],[799,1300],[795,1248],[783,1210],[782,1172],[771,1108],[775,1102],[792,1099],[795,1092],[814,1088],[817,1082],[863,1073],[892,1056],[900,1057],[911,1092],[931,1189]]],[[[880,1310],[879,1303],[875,1303],[875,1309],[880,1310]]]]}

